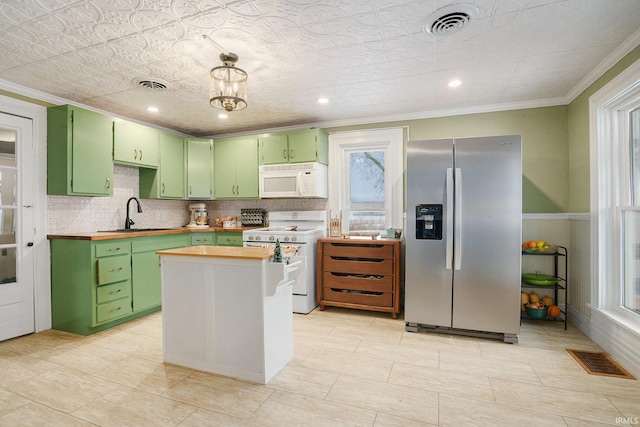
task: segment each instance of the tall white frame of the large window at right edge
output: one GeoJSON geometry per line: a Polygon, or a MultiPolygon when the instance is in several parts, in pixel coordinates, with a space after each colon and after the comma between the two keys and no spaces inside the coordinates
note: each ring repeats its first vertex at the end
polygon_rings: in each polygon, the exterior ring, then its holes
{"type": "Polygon", "coordinates": [[[640,105],[640,61],[589,99],[591,151],[591,307],[640,332],[623,305],[624,211],[631,206],[629,113],[640,105]]]}

